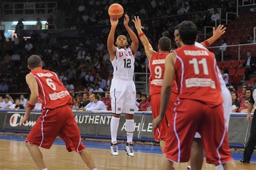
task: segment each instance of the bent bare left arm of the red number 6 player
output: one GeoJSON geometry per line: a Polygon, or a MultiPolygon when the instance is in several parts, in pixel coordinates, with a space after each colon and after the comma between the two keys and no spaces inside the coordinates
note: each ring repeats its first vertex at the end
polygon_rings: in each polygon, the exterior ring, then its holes
{"type": "MultiPolygon", "coordinates": [[[[29,89],[31,92],[31,96],[30,96],[28,105],[35,106],[37,103],[38,97],[39,97],[39,93],[38,93],[38,85],[37,85],[36,79],[33,76],[33,74],[29,73],[26,75],[26,83],[29,85],[29,89]]],[[[29,115],[32,110],[33,110],[33,108],[29,108],[29,106],[28,106],[28,108],[26,108],[25,115],[21,121],[22,125],[26,122],[26,120],[29,119],[29,115]]]]}

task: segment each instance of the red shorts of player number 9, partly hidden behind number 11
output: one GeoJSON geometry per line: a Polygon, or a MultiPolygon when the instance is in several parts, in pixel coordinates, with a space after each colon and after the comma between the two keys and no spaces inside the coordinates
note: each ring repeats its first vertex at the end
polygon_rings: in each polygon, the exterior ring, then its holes
{"type": "MultiPolygon", "coordinates": [[[[161,94],[156,93],[151,96],[151,110],[153,118],[158,117],[160,113],[160,99],[161,94]]],[[[171,123],[171,119],[173,118],[173,108],[174,103],[177,100],[177,92],[171,93],[171,98],[169,100],[169,104],[166,109],[165,118],[158,125],[158,128],[154,128],[154,139],[156,141],[164,140],[166,141],[166,134],[169,128],[169,124],[171,123]]]]}

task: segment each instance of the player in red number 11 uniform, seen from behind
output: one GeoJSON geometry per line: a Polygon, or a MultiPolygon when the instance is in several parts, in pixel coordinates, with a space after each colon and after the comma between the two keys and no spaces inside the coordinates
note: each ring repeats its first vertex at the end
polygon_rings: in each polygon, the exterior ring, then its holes
{"type": "Polygon", "coordinates": [[[182,22],[179,25],[181,47],[165,60],[160,115],[153,120],[153,127],[165,116],[174,78],[178,99],[167,135],[167,160],[163,168],[171,169],[173,161],[187,162],[193,137],[199,132],[208,164],[237,169],[228,146],[216,60],[213,53],[194,45],[196,37],[197,26],[190,21],[182,22]]]}

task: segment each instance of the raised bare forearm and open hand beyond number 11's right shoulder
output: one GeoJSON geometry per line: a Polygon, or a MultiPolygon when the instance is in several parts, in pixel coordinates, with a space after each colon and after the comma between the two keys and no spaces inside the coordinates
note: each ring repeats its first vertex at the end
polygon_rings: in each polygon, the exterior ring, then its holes
{"type": "Polygon", "coordinates": [[[204,42],[201,42],[200,44],[204,45],[205,47],[208,47],[212,45],[217,39],[219,39],[224,33],[226,32],[226,27],[224,25],[219,25],[217,29],[212,28],[212,37],[209,39],[205,40],[204,42]]]}

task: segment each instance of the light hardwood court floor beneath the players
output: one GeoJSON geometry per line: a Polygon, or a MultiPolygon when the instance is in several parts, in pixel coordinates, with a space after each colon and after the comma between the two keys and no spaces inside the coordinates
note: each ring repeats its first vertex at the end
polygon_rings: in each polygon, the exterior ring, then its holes
{"type": "MultiPolygon", "coordinates": [[[[85,144],[86,145],[86,144],[85,144]]],[[[109,149],[88,148],[98,169],[160,169],[163,155],[136,152],[134,158],[127,157],[119,145],[119,157],[112,157],[109,149]]],[[[65,146],[53,145],[41,151],[48,169],[86,169],[79,154],[67,152],[65,146]]],[[[238,169],[254,170],[256,163],[241,164],[238,169]]],[[[174,164],[176,169],[186,169],[187,164],[174,164]]],[[[37,169],[28,149],[22,141],[0,140],[0,169],[37,169]]],[[[204,162],[203,169],[214,170],[213,165],[204,162]]]]}

